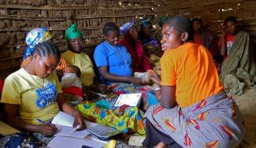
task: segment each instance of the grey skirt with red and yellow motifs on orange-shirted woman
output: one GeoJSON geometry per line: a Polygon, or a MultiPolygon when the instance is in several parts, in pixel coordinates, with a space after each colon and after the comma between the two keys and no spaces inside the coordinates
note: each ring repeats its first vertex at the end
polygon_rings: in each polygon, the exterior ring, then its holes
{"type": "Polygon", "coordinates": [[[182,147],[235,147],[244,134],[236,102],[224,93],[184,109],[165,109],[158,103],[147,110],[145,117],[182,147]]]}

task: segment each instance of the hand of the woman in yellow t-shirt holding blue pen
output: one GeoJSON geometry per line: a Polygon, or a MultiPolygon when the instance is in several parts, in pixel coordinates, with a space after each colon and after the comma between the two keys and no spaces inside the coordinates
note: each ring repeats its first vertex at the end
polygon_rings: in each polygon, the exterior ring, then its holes
{"type": "Polygon", "coordinates": [[[45,136],[54,135],[58,131],[54,124],[39,124],[38,129],[39,133],[45,136]]]}

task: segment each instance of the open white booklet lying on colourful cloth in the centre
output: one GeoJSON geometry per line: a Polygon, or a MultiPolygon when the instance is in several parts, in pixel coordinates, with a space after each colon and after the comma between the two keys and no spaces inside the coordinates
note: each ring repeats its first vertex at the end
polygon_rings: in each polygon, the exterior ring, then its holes
{"type": "Polygon", "coordinates": [[[121,105],[136,106],[139,104],[141,97],[141,93],[120,94],[114,107],[119,107],[121,105]]]}

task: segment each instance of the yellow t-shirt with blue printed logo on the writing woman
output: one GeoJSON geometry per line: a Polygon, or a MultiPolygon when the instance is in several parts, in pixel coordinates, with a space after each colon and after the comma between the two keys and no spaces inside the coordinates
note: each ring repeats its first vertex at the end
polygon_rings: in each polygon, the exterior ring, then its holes
{"type": "Polygon", "coordinates": [[[20,68],[6,78],[1,102],[19,105],[20,119],[28,124],[40,124],[36,119],[49,121],[59,112],[56,101],[59,93],[62,93],[61,85],[55,72],[43,80],[20,68]]]}

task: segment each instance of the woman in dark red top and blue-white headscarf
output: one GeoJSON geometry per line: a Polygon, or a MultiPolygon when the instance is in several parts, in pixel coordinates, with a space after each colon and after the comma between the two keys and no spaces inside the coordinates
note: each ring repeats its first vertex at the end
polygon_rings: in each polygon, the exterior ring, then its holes
{"type": "Polygon", "coordinates": [[[143,45],[139,42],[139,33],[133,23],[123,24],[120,28],[121,39],[118,43],[125,46],[128,53],[132,57],[132,70],[133,72],[147,72],[151,69],[150,62],[143,51],[143,45]]]}

